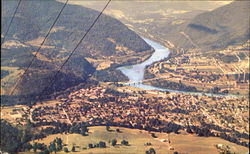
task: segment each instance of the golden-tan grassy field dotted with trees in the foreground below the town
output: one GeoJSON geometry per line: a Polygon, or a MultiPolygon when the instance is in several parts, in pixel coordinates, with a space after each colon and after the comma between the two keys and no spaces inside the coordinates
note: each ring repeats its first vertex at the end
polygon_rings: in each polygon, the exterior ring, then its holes
{"type": "MultiPolygon", "coordinates": [[[[56,137],[60,137],[63,140],[63,144],[71,150],[72,146],[75,145],[76,152],[74,153],[119,153],[119,154],[145,154],[149,148],[154,148],[157,154],[167,154],[178,151],[179,153],[219,153],[215,147],[216,144],[228,145],[230,151],[236,153],[247,153],[248,149],[228,141],[225,141],[216,137],[197,137],[190,134],[168,134],[166,133],[155,133],[157,138],[153,138],[152,135],[144,130],[119,128],[120,133],[117,133],[115,129],[118,127],[111,127],[113,131],[106,131],[105,127],[89,127],[89,135],[81,136],[79,134],[55,134],[50,135],[43,140],[35,140],[34,142],[49,144],[56,137]],[[170,143],[168,143],[170,138],[170,143]],[[115,147],[111,146],[109,141],[117,139],[118,145],[115,147]],[[121,141],[125,139],[129,141],[129,146],[121,145],[121,141]],[[166,139],[167,142],[161,142],[162,139],[166,139]],[[105,141],[107,148],[93,148],[88,149],[89,143],[98,143],[99,141],[105,141]],[[145,146],[144,144],[150,142],[151,146],[145,146]],[[170,147],[173,149],[170,150],[170,147]],[[85,149],[87,148],[87,149],[85,149]]],[[[58,152],[64,153],[64,152],[58,152]]],[[[73,152],[72,152],[73,153],[73,152]]]]}

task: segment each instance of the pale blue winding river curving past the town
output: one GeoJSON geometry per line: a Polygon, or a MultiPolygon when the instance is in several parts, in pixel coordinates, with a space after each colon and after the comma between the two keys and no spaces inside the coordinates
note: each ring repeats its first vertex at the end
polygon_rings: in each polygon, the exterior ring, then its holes
{"type": "Polygon", "coordinates": [[[152,46],[155,52],[152,54],[150,58],[145,60],[140,64],[130,65],[130,66],[123,66],[117,68],[120,70],[124,75],[129,78],[129,82],[126,83],[127,86],[140,88],[144,90],[156,90],[156,91],[169,91],[169,92],[176,92],[176,93],[186,93],[192,95],[207,95],[207,96],[235,96],[235,95],[222,95],[222,94],[212,94],[212,93],[201,93],[201,92],[189,92],[189,91],[181,91],[181,90],[173,90],[173,89],[163,89],[154,87],[151,85],[145,85],[142,83],[144,79],[144,71],[146,66],[160,61],[164,58],[169,56],[169,49],[146,38],[143,38],[150,46],[152,46]]]}

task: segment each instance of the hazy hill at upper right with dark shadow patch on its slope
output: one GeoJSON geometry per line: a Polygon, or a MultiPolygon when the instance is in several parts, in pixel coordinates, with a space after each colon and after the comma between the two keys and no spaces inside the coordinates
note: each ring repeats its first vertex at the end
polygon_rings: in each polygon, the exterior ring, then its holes
{"type": "Polygon", "coordinates": [[[166,37],[182,48],[222,49],[249,39],[249,1],[235,1],[172,26],[166,37]]]}

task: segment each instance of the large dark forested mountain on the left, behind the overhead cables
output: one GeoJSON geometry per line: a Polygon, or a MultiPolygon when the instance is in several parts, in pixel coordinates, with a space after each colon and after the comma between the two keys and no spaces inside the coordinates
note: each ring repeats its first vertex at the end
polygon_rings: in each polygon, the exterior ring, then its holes
{"type": "MultiPolygon", "coordinates": [[[[7,30],[16,5],[17,1],[2,1],[1,38],[7,30]]],[[[39,47],[62,6],[63,3],[54,0],[21,2],[1,51],[2,95],[9,94],[28,66],[32,54],[39,47]]],[[[67,5],[14,94],[39,95],[49,86],[50,78],[55,75],[98,14],[98,11],[92,9],[67,5]]],[[[103,14],[61,70],[56,83],[47,89],[47,93],[85,82],[96,70],[85,59],[87,57],[109,60],[113,64],[126,64],[131,59],[130,56],[151,52],[152,48],[140,36],[120,21],[103,14]],[[119,61],[119,58],[122,60],[119,61]]]]}

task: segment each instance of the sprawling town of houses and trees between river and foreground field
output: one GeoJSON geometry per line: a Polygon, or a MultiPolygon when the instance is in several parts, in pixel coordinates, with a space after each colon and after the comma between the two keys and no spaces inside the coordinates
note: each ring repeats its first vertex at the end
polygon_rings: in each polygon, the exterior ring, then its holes
{"type": "Polygon", "coordinates": [[[3,107],[2,118],[12,115],[13,123],[25,124],[29,120],[34,126],[84,122],[86,126],[167,133],[185,130],[249,145],[248,98],[133,90],[116,95],[114,91],[92,86],[73,91],[66,98],[17,107],[9,113],[3,107]]]}

